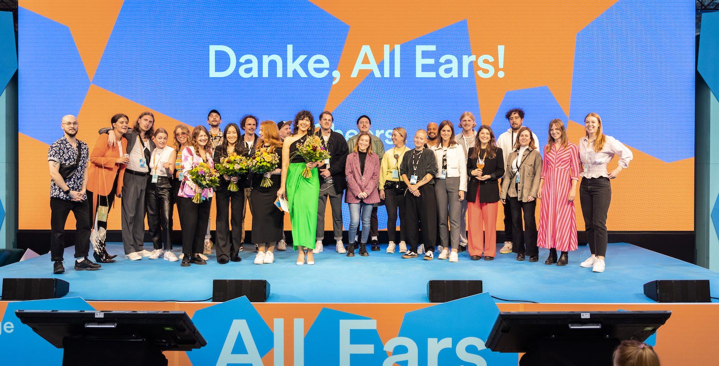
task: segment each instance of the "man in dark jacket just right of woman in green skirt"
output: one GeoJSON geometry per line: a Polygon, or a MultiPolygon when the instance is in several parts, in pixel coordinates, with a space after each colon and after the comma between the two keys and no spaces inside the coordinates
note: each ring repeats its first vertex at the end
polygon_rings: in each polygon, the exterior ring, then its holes
{"type": "MultiPolygon", "coordinates": [[[[347,187],[344,178],[344,163],[347,161],[347,141],[342,134],[332,131],[334,116],[330,111],[324,111],[319,115],[320,129],[316,132],[322,146],[329,152],[329,159],[319,166],[319,202],[317,209],[317,242],[316,252],[322,251],[322,239],[324,239],[324,211],[329,196],[329,206],[332,209],[332,229],[336,241],[336,252],[345,253],[342,243],[342,194],[347,187]]],[[[370,225],[371,226],[371,225],[370,225]]]]}

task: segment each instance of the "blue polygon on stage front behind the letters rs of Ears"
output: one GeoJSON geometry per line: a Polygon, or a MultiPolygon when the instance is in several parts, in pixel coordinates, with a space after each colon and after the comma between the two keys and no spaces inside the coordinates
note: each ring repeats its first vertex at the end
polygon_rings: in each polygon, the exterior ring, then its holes
{"type": "MultiPolygon", "coordinates": [[[[485,342],[498,315],[499,308],[490,294],[480,293],[405,314],[398,337],[407,337],[416,344],[417,353],[420,355],[419,366],[427,365],[429,357],[439,359],[436,365],[465,365],[464,362],[481,365],[481,359],[484,359],[485,365],[517,365],[518,354],[493,352],[485,348],[485,342]],[[443,347],[446,349],[436,355],[434,351],[432,354],[428,353],[428,340],[434,342],[431,339],[436,339],[441,344],[446,338],[449,338],[449,344],[443,347]],[[470,357],[474,360],[469,360],[470,357]]],[[[408,347],[400,347],[399,352],[393,353],[406,353],[407,349],[408,347]]]]}

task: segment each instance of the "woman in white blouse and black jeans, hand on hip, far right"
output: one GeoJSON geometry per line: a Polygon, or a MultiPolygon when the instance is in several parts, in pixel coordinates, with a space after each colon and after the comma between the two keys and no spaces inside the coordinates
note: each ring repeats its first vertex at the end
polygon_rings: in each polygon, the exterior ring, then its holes
{"type": "Polygon", "coordinates": [[[585,137],[580,139],[580,163],[582,163],[582,183],[580,184],[580,203],[585,219],[585,231],[592,256],[580,265],[592,267],[592,272],[604,272],[604,256],[607,252],[607,212],[612,200],[610,179],[629,167],[632,152],[618,139],[602,132],[602,119],[596,113],[585,117],[585,137]],[[614,155],[619,156],[619,165],[611,172],[607,171],[614,155]]]}

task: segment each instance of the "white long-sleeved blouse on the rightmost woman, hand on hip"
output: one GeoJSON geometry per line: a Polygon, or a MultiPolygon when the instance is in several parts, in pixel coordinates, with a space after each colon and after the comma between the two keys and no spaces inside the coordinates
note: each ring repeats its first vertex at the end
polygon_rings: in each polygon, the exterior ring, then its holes
{"type": "Polygon", "coordinates": [[[625,169],[629,167],[629,162],[633,158],[631,150],[614,137],[606,136],[604,146],[599,152],[594,151],[593,144],[590,144],[588,137],[582,137],[580,139],[580,161],[584,170],[580,175],[582,178],[608,178],[607,163],[612,160],[614,155],[619,156],[619,166],[625,169]]]}

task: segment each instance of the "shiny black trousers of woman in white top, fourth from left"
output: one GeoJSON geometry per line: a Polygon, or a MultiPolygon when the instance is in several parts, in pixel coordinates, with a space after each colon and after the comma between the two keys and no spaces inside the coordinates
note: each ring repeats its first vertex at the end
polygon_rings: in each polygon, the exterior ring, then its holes
{"type": "Polygon", "coordinates": [[[168,178],[157,177],[157,183],[147,186],[147,227],[153,249],[173,249],[173,186],[168,178]],[[164,242],[164,247],[163,247],[164,242]]]}

